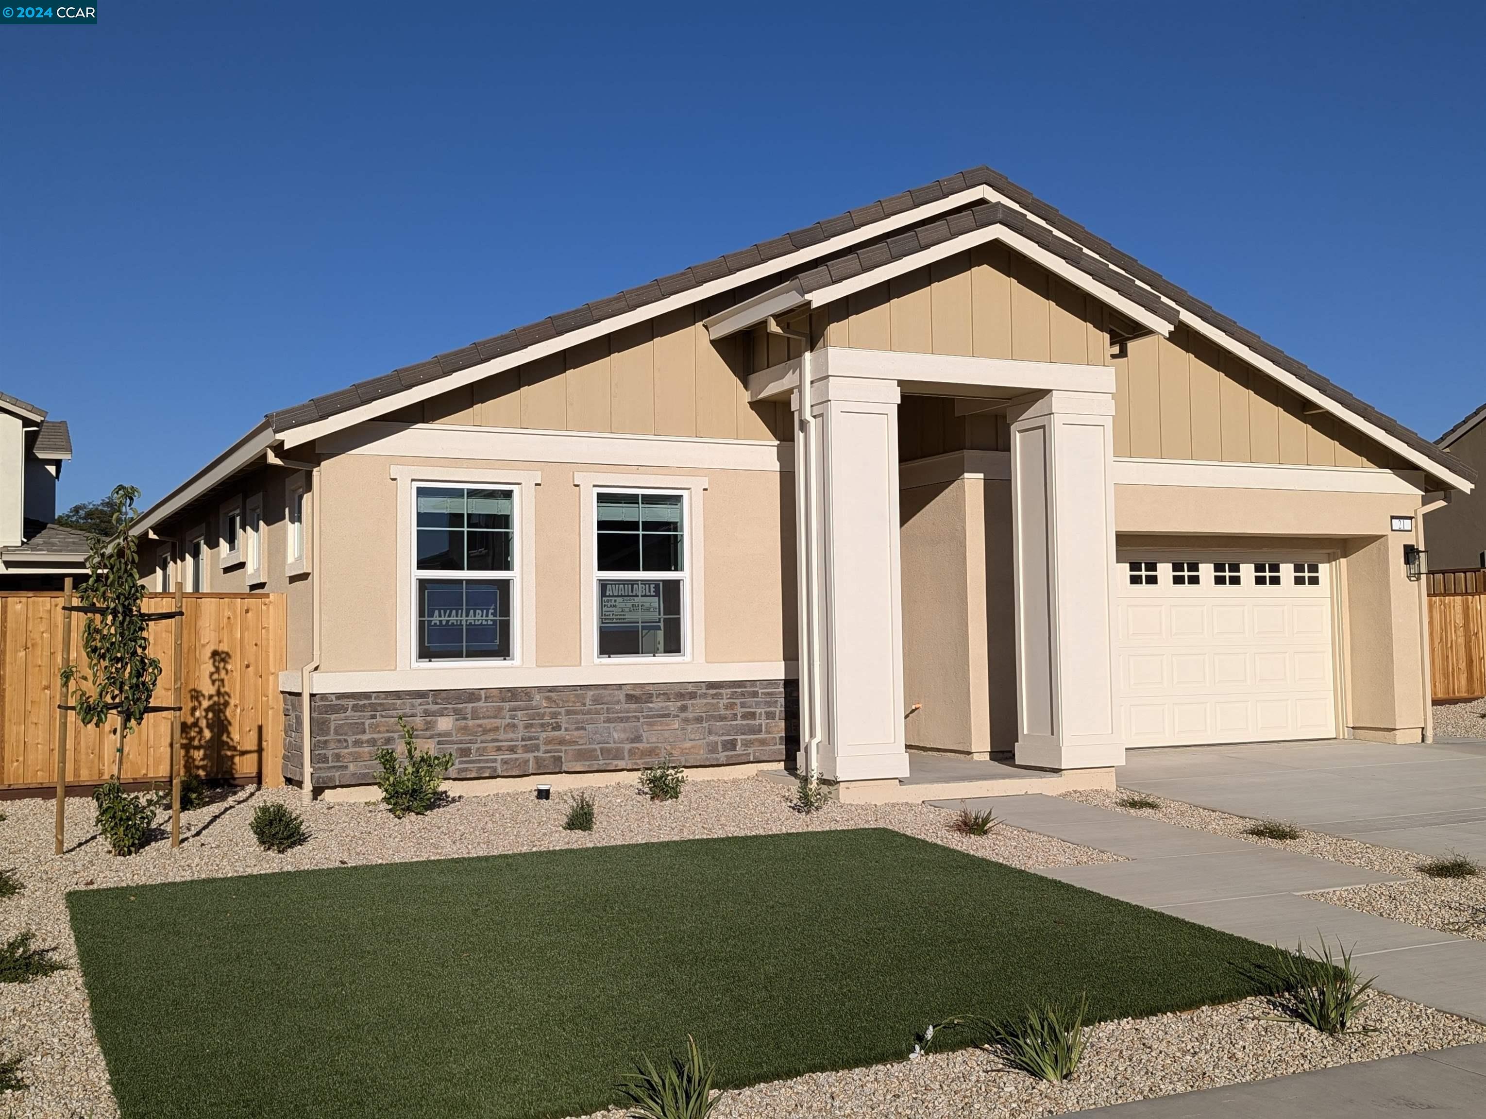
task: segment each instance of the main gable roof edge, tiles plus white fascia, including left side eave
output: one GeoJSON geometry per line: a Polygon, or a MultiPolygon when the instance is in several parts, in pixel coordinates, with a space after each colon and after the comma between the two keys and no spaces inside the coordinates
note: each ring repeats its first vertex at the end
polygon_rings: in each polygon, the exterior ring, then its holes
{"type": "MultiPolygon", "coordinates": [[[[856,230],[863,230],[878,223],[890,221],[899,215],[908,214],[909,217],[899,223],[908,224],[908,221],[911,221],[912,211],[929,207],[933,207],[933,220],[926,220],[923,224],[911,230],[896,232],[875,245],[866,245],[865,248],[854,247],[850,253],[837,256],[832,262],[828,262],[825,267],[828,272],[832,265],[844,269],[850,269],[853,266],[859,269],[877,267],[881,263],[898,260],[903,254],[923,251],[929,245],[941,244],[947,239],[947,236],[958,236],[954,230],[963,227],[966,221],[981,223],[991,220],[993,217],[1006,224],[1016,221],[1016,229],[1024,236],[1034,239],[1048,251],[1055,253],[1074,267],[1085,270],[1106,287],[1112,287],[1140,306],[1150,309],[1165,321],[1177,321],[1180,314],[1174,315],[1174,309],[1201,320],[1207,325],[1221,331],[1239,346],[1247,348],[1262,361],[1268,361],[1285,374],[1294,377],[1296,382],[1308,386],[1318,397],[1327,398],[1337,409],[1340,409],[1340,412],[1349,413],[1352,418],[1360,419],[1363,424],[1370,425],[1376,431],[1380,431],[1386,437],[1395,440],[1406,449],[1406,458],[1418,461],[1419,465],[1433,464],[1444,473],[1447,480],[1465,480],[1467,483],[1474,481],[1476,471],[1456,459],[1447,450],[1406,428],[1398,421],[1379,412],[1346,389],[1327,380],[1324,376],[1302,361],[1290,357],[1278,346],[1272,346],[1253,331],[1245,330],[1233,320],[1217,312],[1208,303],[1204,303],[1181,287],[1168,281],[1165,276],[1146,267],[1134,257],[1119,251],[1103,238],[1095,236],[1077,221],[1065,217],[1055,207],[1051,207],[1036,198],[1030,190],[1016,186],[999,171],[993,171],[988,166],[976,166],[969,171],[950,175],[948,178],[936,180],[915,190],[906,190],[899,195],[892,195],[890,198],[878,199],[866,207],[859,207],[844,214],[838,214],[837,217],[817,221],[813,226],[796,229],[792,233],[785,233],[783,236],[773,238],[771,241],[761,241],[756,245],[749,245],[737,253],[728,253],[727,256],[715,257],[700,265],[692,265],[681,272],[673,272],[667,276],[652,279],[649,284],[642,284],[640,287],[627,288],[626,291],[620,291],[608,299],[584,303],[583,306],[571,311],[563,311],[557,315],[550,315],[535,322],[516,327],[504,334],[481,339],[467,346],[461,346],[459,349],[435,354],[426,361],[403,366],[400,369],[394,369],[391,373],[370,377],[367,380],[358,380],[354,385],[336,392],[328,392],[300,404],[270,412],[265,416],[260,425],[254,426],[247,435],[232,444],[232,447],[224,450],[212,459],[212,462],[193,474],[192,479],[181,483],[181,486],[177,486],[169,495],[147,510],[138,522],[137,531],[147,531],[159,519],[177,508],[183,501],[192,499],[192,495],[198,489],[202,489],[204,486],[210,489],[211,486],[223,481],[226,477],[230,477],[233,471],[241,470],[248,462],[262,458],[262,449],[265,446],[270,446],[294,428],[331,419],[355,409],[361,409],[363,406],[380,404],[382,401],[386,401],[388,409],[398,407],[392,398],[409,389],[452,377],[456,373],[496,361],[499,358],[519,355],[522,351],[538,346],[539,343],[560,339],[565,334],[571,334],[587,327],[600,325],[608,320],[617,320],[621,315],[629,315],[675,296],[695,291],[704,285],[715,284],[715,281],[740,276],[742,273],[750,270],[753,278],[758,278],[758,269],[770,262],[791,254],[804,253],[814,245],[850,235],[856,230]],[[979,195],[973,196],[973,192],[978,189],[979,195]],[[991,198],[991,193],[999,198],[991,198]],[[964,196],[963,204],[954,202],[957,196],[964,196]],[[1009,201],[1012,205],[1002,205],[1002,199],[1009,201]],[[999,214],[991,211],[991,207],[996,207],[999,214]],[[1019,213],[1018,208],[1025,213],[1019,213]],[[981,213],[982,210],[987,213],[981,213]],[[1036,220],[1028,220],[1027,215],[1031,215],[1031,218],[1036,220]],[[909,233],[912,235],[911,238],[908,236],[909,233]],[[856,259],[856,265],[849,262],[850,257],[856,259]],[[1156,311],[1156,308],[1161,308],[1161,311],[1156,311]]],[[[810,262],[810,266],[798,275],[804,279],[805,276],[811,276],[820,267],[822,262],[816,259],[810,262]]],[[[783,270],[783,266],[780,270],[783,270]]],[[[777,276],[779,273],[776,272],[774,275],[777,276]]],[[[739,282],[743,282],[743,279],[739,282]]],[[[1343,421],[1348,416],[1345,415],[1342,416],[1343,421]]]]}

